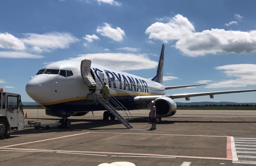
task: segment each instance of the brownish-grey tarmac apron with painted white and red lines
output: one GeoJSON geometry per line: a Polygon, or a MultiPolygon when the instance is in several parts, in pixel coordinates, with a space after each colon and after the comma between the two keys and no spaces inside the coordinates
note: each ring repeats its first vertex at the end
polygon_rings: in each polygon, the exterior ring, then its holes
{"type": "MultiPolygon", "coordinates": [[[[102,120],[103,111],[70,117],[69,129],[27,128],[0,140],[0,165],[136,166],[256,165],[256,111],[177,110],[150,131],[148,110],[130,111],[132,129],[102,120]]],[[[55,123],[44,109],[25,109],[27,121],[55,123]]]]}

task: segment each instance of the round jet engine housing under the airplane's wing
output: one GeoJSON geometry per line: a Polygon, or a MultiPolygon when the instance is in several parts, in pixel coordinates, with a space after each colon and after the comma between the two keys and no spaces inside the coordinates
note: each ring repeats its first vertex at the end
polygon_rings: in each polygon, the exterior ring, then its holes
{"type": "Polygon", "coordinates": [[[154,101],[156,108],[156,116],[159,117],[170,117],[173,116],[177,111],[177,105],[169,97],[158,97],[154,101]]]}

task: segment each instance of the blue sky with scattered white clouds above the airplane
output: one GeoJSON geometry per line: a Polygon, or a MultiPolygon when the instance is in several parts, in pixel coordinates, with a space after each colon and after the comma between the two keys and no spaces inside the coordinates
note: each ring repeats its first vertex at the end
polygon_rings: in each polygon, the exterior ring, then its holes
{"type": "MultiPolygon", "coordinates": [[[[25,91],[30,77],[64,59],[89,58],[151,78],[165,44],[165,86],[207,83],[167,94],[256,89],[255,5],[233,0],[4,0],[0,87],[32,101],[25,91]]],[[[191,97],[189,102],[256,102],[255,97],[250,92],[191,97]]]]}

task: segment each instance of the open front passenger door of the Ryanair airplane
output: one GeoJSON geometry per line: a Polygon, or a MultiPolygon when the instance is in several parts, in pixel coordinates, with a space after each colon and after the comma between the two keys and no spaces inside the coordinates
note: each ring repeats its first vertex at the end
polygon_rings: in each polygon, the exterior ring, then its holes
{"type": "Polygon", "coordinates": [[[85,84],[89,88],[97,86],[96,82],[94,81],[94,79],[91,75],[91,64],[92,64],[92,61],[90,61],[90,60],[85,59],[85,60],[81,61],[81,76],[82,76],[85,84]]]}

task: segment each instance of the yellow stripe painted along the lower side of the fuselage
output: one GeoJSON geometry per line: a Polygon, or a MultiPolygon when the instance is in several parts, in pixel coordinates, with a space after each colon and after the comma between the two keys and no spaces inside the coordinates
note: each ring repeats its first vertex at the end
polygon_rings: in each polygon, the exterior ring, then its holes
{"type": "MultiPolygon", "coordinates": [[[[147,94],[147,93],[117,93],[117,94],[113,94],[113,96],[154,96],[154,95],[147,94]]],[[[86,99],[86,96],[64,99],[64,100],[59,100],[59,101],[53,101],[53,102],[49,102],[49,103],[40,103],[40,104],[41,105],[54,105],[54,104],[68,102],[68,101],[77,101],[77,100],[85,100],[85,99],[86,99]]]]}

